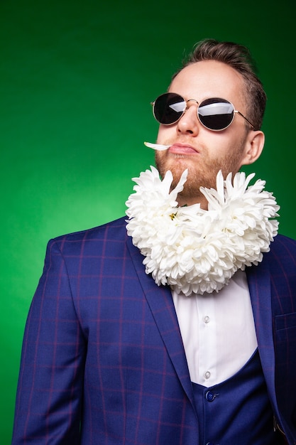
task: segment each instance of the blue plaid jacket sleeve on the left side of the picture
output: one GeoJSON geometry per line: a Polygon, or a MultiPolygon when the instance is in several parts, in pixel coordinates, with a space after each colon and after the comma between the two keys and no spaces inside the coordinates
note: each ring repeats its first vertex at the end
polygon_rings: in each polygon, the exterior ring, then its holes
{"type": "Polygon", "coordinates": [[[12,445],[80,444],[85,353],[65,260],[52,240],[26,322],[12,445]]]}

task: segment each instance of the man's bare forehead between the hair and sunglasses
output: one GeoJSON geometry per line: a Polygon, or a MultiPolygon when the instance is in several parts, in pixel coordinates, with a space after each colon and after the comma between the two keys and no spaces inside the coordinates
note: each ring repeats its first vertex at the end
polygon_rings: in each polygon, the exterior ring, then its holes
{"type": "Polygon", "coordinates": [[[216,60],[202,60],[183,68],[170,84],[169,91],[198,102],[222,97],[237,103],[243,100],[243,77],[234,68],[216,60]]]}

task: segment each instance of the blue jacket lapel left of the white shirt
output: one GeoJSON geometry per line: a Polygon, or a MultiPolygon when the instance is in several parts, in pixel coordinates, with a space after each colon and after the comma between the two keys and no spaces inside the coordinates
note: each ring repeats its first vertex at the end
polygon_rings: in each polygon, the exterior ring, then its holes
{"type": "Polygon", "coordinates": [[[194,406],[190,374],[170,288],[168,286],[158,286],[152,277],[146,274],[143,266],[143,256],[138,248],[133,246],[131,237],[128,237],[127,245],[138,280],[141,283],[160,336],[163,338],[165,348],[168,350],[172,365],[187,397],[194,406]]]}

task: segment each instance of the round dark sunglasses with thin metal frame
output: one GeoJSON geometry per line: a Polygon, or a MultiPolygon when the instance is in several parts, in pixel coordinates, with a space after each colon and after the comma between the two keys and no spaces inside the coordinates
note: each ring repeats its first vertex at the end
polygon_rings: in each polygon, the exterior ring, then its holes
{"type": "Polygon", "coordinates": [[[175,92],[165,92],[155,102],[152,102],[153,115],[160,124],[175,124],[185,113],[187,102],[190,101],[197,103],[199,122],[209,130],[220,132],[226,129],[233,122],[235,113],[240,114],[255,129],[253,124],[241,112],[234,109],[234,105],[231,102],[220,97],[212,97],[211,99],[203,100],[199,104],[197,100],[185,100],[184,97],[177,95],[175,92]]]}

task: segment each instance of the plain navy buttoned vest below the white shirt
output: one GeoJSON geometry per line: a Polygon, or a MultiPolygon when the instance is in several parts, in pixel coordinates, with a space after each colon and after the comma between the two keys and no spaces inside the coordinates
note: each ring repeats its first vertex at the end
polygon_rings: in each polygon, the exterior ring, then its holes
{"type": "Polygon", "coordinates": [[[258,350],[233,377],[204,387],[192,383],[199,445],[278,445],[258,350]]]}

